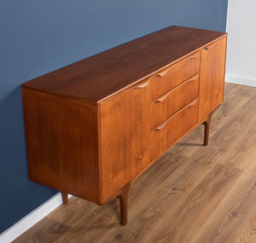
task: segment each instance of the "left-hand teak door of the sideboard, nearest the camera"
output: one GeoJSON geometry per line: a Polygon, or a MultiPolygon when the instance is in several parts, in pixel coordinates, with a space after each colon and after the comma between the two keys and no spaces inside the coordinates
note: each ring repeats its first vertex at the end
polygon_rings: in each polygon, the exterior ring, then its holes
{"type": "Polygon", "coordinates": [[[102,201],[149,163],[148,81],[101,104],[102,201]]]}

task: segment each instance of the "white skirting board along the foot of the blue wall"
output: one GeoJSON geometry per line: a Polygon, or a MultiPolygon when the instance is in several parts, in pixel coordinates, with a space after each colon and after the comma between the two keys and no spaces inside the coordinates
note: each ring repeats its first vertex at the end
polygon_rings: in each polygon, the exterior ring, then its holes
{"type": "MultiPolygon", "coordinates": [[[[68,195],[68,198],[70,197],[72,197],[72,195],[68,195]]],[[[43,205],[40,205],[37,209],[26,215],[26,217],[21,218],[19,222],[0,234],[0,243],[9,243],[15,240],[20,234],[23,234],[27,229],[30,229],[34,224],[38,223],[61,204],[61,193],[55,194],[43,205]]]]}

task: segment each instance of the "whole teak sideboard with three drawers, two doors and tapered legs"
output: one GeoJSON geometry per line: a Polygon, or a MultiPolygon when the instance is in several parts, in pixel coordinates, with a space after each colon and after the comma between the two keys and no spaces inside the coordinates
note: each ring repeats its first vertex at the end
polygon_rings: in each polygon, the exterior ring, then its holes
{"type": "Polygon", "coordinates": [[[103,205],[224,100],[224,32],[170,26],[22,84],[29,177],[103,205]]]}

